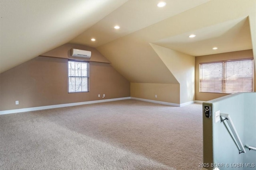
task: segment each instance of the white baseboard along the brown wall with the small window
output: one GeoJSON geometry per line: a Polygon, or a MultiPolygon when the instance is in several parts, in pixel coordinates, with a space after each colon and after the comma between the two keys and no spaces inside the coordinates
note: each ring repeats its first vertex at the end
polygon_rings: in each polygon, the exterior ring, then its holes
{"type": "Polygon", "coordinates": [[[68,106],[78,106],[84,104],[94,104],[94,103],[102,103],[102,102],[112,102],[116,100],[127,100],[131,99],[131,97],[125,98],[114,98],[114,99],[105,99],[105,100],[94,100],[88,102],[78,102],[78,103],[69,103],[69,104],[58,104],[58,105],[50,105],[50,106],[40,106],[40,107],[30,107],[30,108],[23,108],[23,109],[13,109],[13,110],[4,110],[0,111],[0,115],[10,114],[10,113],[21,113],[25,111],[35,111],[35,110],[44,110],[44,109],[54,109],[59,107],[68,107],[68,106]]]}

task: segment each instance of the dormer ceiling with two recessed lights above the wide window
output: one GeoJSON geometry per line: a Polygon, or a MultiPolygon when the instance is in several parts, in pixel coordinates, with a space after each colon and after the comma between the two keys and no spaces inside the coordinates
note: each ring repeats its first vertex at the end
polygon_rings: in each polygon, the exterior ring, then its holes
{"type": "Polygon", "coordinates": [[[252,49],[250,24],[247,17],[174,35],[154,43],[193,56],[252,49]],[[189,39],[188,35],[191,32],[197,36],[189,39]],[[212,50],[211,47],[218,47],[218,50],[212,50]]]}

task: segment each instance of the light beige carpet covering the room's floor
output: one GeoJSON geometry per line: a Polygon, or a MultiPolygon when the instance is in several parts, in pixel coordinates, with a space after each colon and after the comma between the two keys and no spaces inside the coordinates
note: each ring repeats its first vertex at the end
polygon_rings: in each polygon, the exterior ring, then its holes
{"type": "Polygon", "coordinates": [[[0,115],[3,170],[199,170],[202,154],[201,104],[121,100],[0,115]]]}

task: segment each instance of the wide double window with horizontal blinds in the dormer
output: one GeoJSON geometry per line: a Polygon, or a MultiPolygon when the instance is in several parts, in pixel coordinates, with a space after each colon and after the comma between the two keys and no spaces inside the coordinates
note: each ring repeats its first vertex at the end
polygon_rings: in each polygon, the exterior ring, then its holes
{"type": "Polygon", "coordinates": [[[200,92],[253,92],[253,59],[200,63],[200,92]]]}

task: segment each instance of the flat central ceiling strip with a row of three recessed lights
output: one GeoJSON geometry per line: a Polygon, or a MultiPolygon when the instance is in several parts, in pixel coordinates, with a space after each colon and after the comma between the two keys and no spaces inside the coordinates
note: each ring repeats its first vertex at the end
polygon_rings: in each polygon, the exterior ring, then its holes
{"type": "Polygon", "coordinates": [[[70,43],[99,47],[208,1],[166,0],[168,4],[164,8],[158,8],[156,4],[160,0],[129,0],[70,43]],[[120,25],[121,28],[115,30],[115,25],[120,25]],[[95,38],[96,41],[92,42],[91,38],[95,38]]]}

